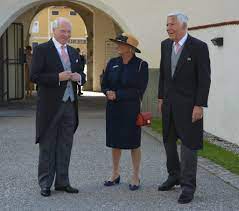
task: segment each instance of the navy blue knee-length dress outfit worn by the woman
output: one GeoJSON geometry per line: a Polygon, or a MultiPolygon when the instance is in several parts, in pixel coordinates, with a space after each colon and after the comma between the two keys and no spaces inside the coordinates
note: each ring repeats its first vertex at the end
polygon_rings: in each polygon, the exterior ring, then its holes
{"type": "Polygon", "coordinates": [[[115,101],[106,105],[106,146],[135,149],[141,144],[141,128],[136,126],[140,100],[148,83],[148,64],[134,56],[128,64],[121,57],[111,59],[106,67],[101,88],[116,92],[115,101]]]}

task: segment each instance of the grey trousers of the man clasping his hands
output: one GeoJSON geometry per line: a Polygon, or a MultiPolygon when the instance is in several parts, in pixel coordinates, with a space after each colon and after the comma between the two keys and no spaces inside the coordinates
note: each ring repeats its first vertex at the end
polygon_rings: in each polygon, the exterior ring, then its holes
{"type": "Polygon", "coordinates": [[[38,182],[41,188],[70,184],[68,169],[76,114],[73,103],[62,102],[48,131],[39,143],[38,182]]]}

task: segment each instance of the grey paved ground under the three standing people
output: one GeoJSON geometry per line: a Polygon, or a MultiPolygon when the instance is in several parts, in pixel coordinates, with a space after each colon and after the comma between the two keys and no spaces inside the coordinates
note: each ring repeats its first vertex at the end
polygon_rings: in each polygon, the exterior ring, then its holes
{"type": "Polygon", "coordinates": [[[34,106],[0,108],[0,210],[239,210],[239,190],[199,167],[198,190],[189,205],[177,204],[180,188],[158,192],[166,178],[163,146],[142,136],[142,188],[128,190],[131,160],[122,157],[122,183],[104,187],[111,172],[111,151],[105,147],[104,100],[82,97],[80,127],[75,135],[70,166],[71,183],[79,194],[39,194],[38,146],[34,144],[34,106]]]}

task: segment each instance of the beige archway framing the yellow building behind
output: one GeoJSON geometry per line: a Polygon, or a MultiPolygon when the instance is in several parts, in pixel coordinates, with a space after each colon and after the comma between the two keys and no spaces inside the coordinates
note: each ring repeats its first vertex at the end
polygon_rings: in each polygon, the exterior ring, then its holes
{"type": "Polygon", "coordinates": [[[34,16],[43,8],[49,6],[67,6],[80,14],[85,22],[88,38],[87,51],[90,58],[88,61],[87,84],[85,90],[100,91],[100,74],[105,67],[105,45],[108,38],[126,30],[126,26],[109,6],[101,1],[31,1],[26,4],[21,2],[18,8],[12,10],[8,19],[0,27],[0,34],[13,22],[24,24],[24,43],[28,44],[29,28],[34,16]],[[87,3],[86,3],[87,2],[87,3]],[[15,13],[14,13],[15,12],[15,13]],[[114,17],[112,17],[113,15],[114,17]],[[117,20],[115,19],[117,18],[117,20]],[[107,28],[107,27],[108,28],[107,28]],[[104,30],[104,27],[106,29],[104,30]]]}

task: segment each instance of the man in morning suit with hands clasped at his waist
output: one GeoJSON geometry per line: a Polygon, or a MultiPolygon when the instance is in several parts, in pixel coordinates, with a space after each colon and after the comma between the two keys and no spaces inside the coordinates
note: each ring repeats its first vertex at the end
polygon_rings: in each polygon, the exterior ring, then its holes
{"type": "Polygon", "coordinates": [[[54,37],[35,47],[31,80],[38,85],[36,142],[39,143],[38,181],[42,196],[55,190],[78,193],[70,186],[68,169],[73,135],[78,126],[77,84],[85,83],[78,52],[67,45],[71,23],[58,18],[54,37]]]}

